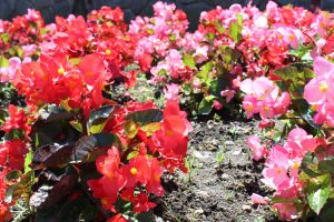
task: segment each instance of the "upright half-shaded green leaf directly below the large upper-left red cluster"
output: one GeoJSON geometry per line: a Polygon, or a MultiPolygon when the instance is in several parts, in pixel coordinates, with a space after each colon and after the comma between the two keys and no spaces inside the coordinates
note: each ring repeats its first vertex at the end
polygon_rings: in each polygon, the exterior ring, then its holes
{"type": "Polygon", "coordinates": [[[104,130],[114,105],[105,105],[96,111],[92,111],[87,122],[87,129],[89,133],[100,133],[104,130]]]}

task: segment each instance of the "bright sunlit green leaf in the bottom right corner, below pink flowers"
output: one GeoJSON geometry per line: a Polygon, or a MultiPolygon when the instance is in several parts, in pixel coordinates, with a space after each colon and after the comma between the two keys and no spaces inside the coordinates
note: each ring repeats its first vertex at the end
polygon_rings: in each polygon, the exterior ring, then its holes
{"type": "Polygon", "coordinates": [[[311,190],[307,192],[307,202],[311,209],[320,214],[322,208],[325,205],[330,193],[331,193],[331,175],[324,174],[316,178],[318,185],[315,190],[311,190]]]}

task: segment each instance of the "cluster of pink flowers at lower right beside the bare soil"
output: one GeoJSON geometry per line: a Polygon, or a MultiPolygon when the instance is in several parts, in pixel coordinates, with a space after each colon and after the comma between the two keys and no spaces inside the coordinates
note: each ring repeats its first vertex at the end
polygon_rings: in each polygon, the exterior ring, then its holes
{"type": "MultiPolygon", "coordinates": [[[[273,209],[278,211],[281,219],[294,220],[298,218],[298,210],[295,200],[303,198],[303,181],[299,179],[299,167],[307,152],[315,153],[318,147],[326,149],[325,153],[317,155],[320,160],[325,159],[333,152],[327,148],[323,138],[313,138],[301,128],[293,129],[287,137],[284,145],[274,145],[269,151],[261,144],[257,137],[248,139],[255,160],[267,155],[265,169],[263,170],[262,182],[275,190],[274,198],[285,199],[283,203],[274,203],[273,209]]],[[[254,194],[253,202],[267,204],[268,201],[254,194]]]]}

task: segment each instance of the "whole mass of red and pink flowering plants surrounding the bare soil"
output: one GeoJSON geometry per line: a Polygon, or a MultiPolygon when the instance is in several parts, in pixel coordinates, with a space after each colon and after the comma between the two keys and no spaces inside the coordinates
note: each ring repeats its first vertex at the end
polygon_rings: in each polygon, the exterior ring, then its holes
{"type": "Polygon", "coordinates": [[[247,144],[274,193],[253,202],[287,221],[333,218],[333,14],[233,4],[203,12],[191,33],[174,4],[154,11],[129,26],[107,7],[86,20],[45,24],[29,10],[0,22],[1,82],[27,104],[1,110],[1,220],[144,220],[163,173],[190,168],[180,108],[258,118],[265,141],[247,144]],[[161,108],[137,101],[139,79],[161,108]]]}

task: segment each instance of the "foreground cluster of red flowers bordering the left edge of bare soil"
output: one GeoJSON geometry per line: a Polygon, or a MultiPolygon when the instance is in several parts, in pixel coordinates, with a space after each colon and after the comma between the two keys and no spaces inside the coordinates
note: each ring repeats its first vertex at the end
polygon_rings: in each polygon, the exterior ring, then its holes
{"type": "Polygon", "coordinates": [[[164,110],[164,120],[154,125],[136,125],[125,120],[128,113],[153,109],[153,103],[129,103],[116,113],[116,118],[107,122],[104,131],[117,133],[128,150],[137,150],[136,157],[127,164],[122,161],[128,151],[119,153],[115,147],[108,150],[107,155],[99,157],[96,161],[98,172],[102,178],[88,181],[94,191],[94,196],[101,199],[105,209],[115,211],[114,204],[120,198],[134,204],[134,212],[148,211],[156,204],[148,201],[147,193],[163,195],[160,176],[164,169],[174,172],[176,168],[187,171],[184,157],[187,152],[188,132],[191,125],[185,119],[186,113],[180,111],[177,102],[169,101],[164,110]],[[120,129],[132,124],[130,133],[120,129]],[[132,147],[132,149],[130,148],[132,147]],[[140,191],[145,186],[146,192],[140,191]]]}

